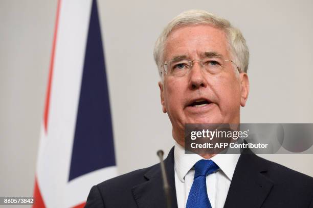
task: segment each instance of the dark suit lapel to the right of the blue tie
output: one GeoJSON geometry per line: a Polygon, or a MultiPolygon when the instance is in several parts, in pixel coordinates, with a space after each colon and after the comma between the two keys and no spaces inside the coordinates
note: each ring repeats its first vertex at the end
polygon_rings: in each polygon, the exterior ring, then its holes
{"type": "Polygon", "coordinates": [[[224,208],[261,207],[274,184],[265,176],[266,172],[262,160],[250,150],[245,150],[235,168],[224,208]]]}

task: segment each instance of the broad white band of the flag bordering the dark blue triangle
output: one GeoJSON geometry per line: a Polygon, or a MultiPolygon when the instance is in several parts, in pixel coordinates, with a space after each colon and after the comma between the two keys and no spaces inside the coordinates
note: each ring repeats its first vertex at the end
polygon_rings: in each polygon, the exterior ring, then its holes
{"type": "Polygon", "coordinates": [[[116,167],[108,167],[68,181],[91,6],[91,0],[62,0],[60,5],[48,131],[42,125],[37,162],[47,207],[77,205],[93,185],[117,174],[116,167]]]}

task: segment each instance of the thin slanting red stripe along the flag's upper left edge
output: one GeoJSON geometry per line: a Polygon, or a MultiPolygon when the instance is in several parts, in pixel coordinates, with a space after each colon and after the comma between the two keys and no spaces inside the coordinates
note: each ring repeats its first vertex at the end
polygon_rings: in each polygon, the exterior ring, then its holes
{"type": "Polygon", "coordinates": [[[48,116],[49,116],[49,105],[50,105],[51,82],[52,82],[52,74],[53,74],[53,66],[54,66],[56,37],[57,37],[58,24],[59,24],[60,4],[61,4],[61,0],[58,0],[57,14],[56,14],[56,20],[55,20],[55,25],[54,25],[52,53],[51,53],[50,67],[49,67],[49,78],[48,78],[48,87],[47,87],[47,94],[46,94],[46,104],[44,106],[44,115],[43,115],[44,130],[46,133],[48,132],[48,116]]]}

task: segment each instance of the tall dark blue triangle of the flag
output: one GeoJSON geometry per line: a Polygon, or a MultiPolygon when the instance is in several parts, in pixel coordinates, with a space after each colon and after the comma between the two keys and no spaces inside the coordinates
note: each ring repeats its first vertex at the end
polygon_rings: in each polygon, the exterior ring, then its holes
{"type": "Polygon", "coordinates": [[[69,181],[83,174],[115,165],[101,30],[97,1],[93,0],[69,181]]]}

